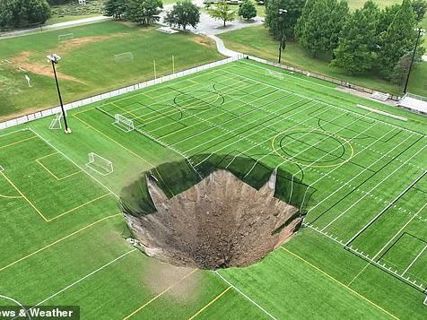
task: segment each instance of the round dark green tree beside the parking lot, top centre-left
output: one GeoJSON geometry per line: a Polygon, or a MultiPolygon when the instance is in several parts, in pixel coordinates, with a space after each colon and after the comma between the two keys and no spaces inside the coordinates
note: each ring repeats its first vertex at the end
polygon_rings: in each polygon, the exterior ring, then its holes
{"type": "Polygon", "coordinates": [[[184,30],[188,25],[196,28],[197,23],[200,22],[200,11],[196,4],[193,4],[190,0],[179,1],[166,14],[164,22],[170,26],[182,27],[184,30]]]}

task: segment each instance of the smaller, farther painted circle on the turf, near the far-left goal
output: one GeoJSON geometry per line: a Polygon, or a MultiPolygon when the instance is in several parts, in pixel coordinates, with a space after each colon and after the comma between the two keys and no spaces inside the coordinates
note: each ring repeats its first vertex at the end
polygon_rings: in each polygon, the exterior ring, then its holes
{"type": "Polygon", "coordinates": [[[221,106],[224,103],[224,97],[219,92],[200,90],[191,94],[180,93],[173,99],[173,102],[179,108],[201,111],[221,106]]]}

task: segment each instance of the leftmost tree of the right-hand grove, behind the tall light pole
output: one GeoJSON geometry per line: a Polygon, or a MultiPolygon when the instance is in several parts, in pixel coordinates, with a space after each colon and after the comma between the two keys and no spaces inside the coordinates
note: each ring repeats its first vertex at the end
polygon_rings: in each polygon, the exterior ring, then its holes
{"type": "MultiPolygon", "coordinates": [[[[307,2],[312,1],[308,0],[307,2]]],[[[270,34],[277,39],[280,38],[283,26],[285,35],[293,39],[295,24],[301,17],[305,3],[305,0],[268,0],[266,2],[266,27],[270,34]],[[283,24],[280,21],[279,9],[287,11],[283,16],[283,24]]]]}

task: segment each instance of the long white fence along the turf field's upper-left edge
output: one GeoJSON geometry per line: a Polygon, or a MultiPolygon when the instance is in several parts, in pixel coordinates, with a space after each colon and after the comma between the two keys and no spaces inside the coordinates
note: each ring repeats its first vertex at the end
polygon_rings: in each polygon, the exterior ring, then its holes
{"type": "MultiPolygon", "coordinates": [[[[126,94],[128,92],[141,90],[141,89],[144,89],[146,87],[153,86],[155,84],[159,84],[159,83],[167,82],[167,81],[177,79],[180,77],[184,77],[188,74],[196,74],[200,71],[211,69],[215,66],[229,64],[229,63],[236,61],[236,60],[239,60],[241,58],[243,58],[243,55],[231,56],[231,57],[228,57],[226,59],[223,59],[220,61],[215,61],[215,62],[207,64],[207,65],[199,65],[199,66],[196,66],[194,68],[183,70],[183,71],[180,71],[180,72],[175,73],[175,74],[164,75],[160,78],[153,79],[153,80],[150,80],[147,82],[136,83],[136,84],[133,84],[133,85],[130,85],[128,87],[121,88],[121,89],[118,89],[115,91],[109,91],[109,92],[101,93],[99,95],[96,95],[96,96],[93,96],[90,98],[81,99],[78,101],[67,103],[64,105],[64,108],[65,108],[65,110],[71,110],[73,108],[80,108],[80,107],[89,105],[93,102],[117,97],[119,95],[126,94]]],[[[22,125],[22,124],[25,124],[27,122],[39,119],[41,117],[49,117],[52,115],[56,115],[59,112],[61,112],[61,108],[56,107],[56,108],[48,108],[46,110],[35,112],[35,113],[30,114],[30,115],[17,117],[17,118],[14,118],[12,120],[8,120],[8,121],[4,121],[4,122],[0,123],[0,130],[5,129],[5,128],[9,128],[9,127],[15,126],[15,125],[22,125]]]]}

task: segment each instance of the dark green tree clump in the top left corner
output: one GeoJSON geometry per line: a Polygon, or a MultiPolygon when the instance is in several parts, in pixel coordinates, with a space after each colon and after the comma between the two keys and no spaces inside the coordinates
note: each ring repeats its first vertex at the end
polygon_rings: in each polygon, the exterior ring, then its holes
{"type": "Polygon", "coordinates": [[[0,1],[0,29],[41,24],[49,17],[50,6],[46,0],[0,1]]]}

